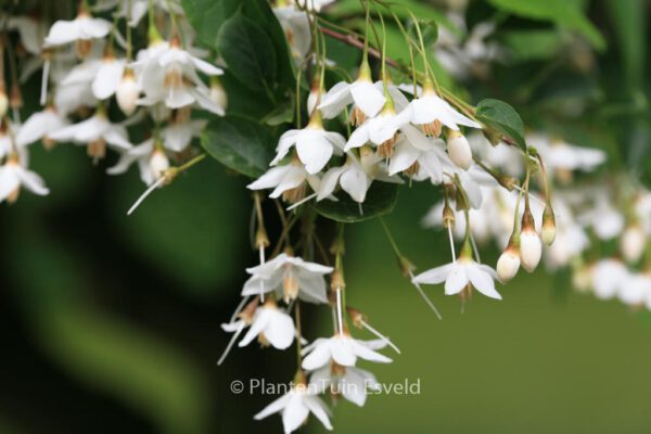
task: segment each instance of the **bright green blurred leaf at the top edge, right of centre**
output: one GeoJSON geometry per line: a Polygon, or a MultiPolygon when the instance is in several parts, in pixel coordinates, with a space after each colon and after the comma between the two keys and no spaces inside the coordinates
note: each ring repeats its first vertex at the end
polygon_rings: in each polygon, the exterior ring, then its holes
{"type": "Polygon", "coordinates": [[[529,20],[549,21],[575,30],[598,50],[605,49],[599,29],[586,17],[576,0],[488,0],[495,8],[529,20]]]}

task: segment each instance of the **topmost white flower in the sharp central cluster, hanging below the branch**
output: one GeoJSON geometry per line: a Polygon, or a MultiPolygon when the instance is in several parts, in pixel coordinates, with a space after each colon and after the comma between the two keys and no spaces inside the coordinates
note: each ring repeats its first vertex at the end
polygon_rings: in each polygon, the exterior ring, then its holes
{"type": "MultiPolygon", "coordinates": [[[[370,68],[368,65],[360,67],[359,78],[354,82],[340,81],[334,85],[317,108],[321,111],[323,117],[331,119],[339,115],[346,106],[355,104],[354,111],[361,111],[356,117],[363,122],[363,117],[375,117],[384,106],[386,99],[382,91],[371,81],[370,68]]],[[[359,124],[361,124],[359,122],[359,124]]]]}

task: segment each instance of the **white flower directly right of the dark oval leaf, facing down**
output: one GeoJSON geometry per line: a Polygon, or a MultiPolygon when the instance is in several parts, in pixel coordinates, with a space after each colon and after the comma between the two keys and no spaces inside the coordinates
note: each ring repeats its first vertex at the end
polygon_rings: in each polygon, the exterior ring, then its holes
{"type": "Polygon", "coordinates": [[[295,145],[298,159],[305,165],[308,174],[315,175],[326,167],[333,154],[342,154],[345,142],[339,132],[326,131],[321,116],[316,113],[307,127],[289,130],[280,137],[276,149],[278,154],[271,166],[276,166],[295,145]]]}

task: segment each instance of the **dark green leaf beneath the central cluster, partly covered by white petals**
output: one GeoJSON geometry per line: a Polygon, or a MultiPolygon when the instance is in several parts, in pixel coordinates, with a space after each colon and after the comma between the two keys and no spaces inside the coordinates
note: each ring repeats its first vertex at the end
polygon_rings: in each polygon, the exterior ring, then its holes
{"type": "Polygon", "coordinates": [[[347,193],[337,194],[337,202],[328,200],[318,202],[314,207],[323,217],[335,221],[345,224],[365,221],[393,210],[398,201],[398,184],[373,182],[361,204],[362,214],[359,213],[359,203],[350,199],[347,193]]]}

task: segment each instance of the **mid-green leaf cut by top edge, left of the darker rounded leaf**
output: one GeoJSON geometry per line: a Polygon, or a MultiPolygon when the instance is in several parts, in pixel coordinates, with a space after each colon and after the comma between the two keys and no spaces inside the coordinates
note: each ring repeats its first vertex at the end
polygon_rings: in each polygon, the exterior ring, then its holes
{"type": "Polygon", "coordinates": [[[240,0],[181,0],[188,21],[199,39],[214,49],[221,25],[240,7],[240,0]]]}

